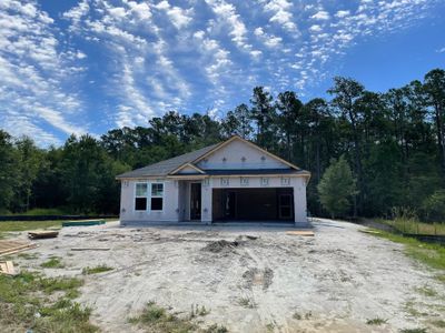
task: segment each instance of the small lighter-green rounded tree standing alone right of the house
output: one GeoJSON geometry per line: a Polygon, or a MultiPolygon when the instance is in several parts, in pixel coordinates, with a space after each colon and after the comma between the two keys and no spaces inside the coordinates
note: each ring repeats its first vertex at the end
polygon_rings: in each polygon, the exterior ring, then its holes
{"type": "Polygon", "coordinates": [[[333,160],[317,186],[320,203],[330,216],[344,215],[350,208],[350,199],[356,194],[355,179],[344,157],[333,160]]]}

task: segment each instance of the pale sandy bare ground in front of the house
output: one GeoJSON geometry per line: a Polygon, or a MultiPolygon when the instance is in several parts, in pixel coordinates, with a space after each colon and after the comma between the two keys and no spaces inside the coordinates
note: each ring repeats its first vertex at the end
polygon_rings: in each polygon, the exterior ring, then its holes
{"type": "Polygon", "coordinates": [[[148,301],[179,315],[204,305],[210,312],[199,317],[202,325],[218,323],[230,332],[443,330],[432,324],[445,320],[437,271],[406,258],[400,244],[359,232],[359,225],[313,224],[314,238],[265,226],[65,228],[58,239],[37,241],[40,246],[28,251],[38,259],[17,263],[42,270],[48,258],[60,256],[65,269],[43,270],[52,276],[113,268],[83,276],[79,297],[105,332],[136,332],[128,317],[148,301]],[[71,251],[79,246],[110,250],[71,251]],[[437,294],[426,295],[423,287],[437,294]],[[387,323],[366,324],[376,317],[387,323]]]}

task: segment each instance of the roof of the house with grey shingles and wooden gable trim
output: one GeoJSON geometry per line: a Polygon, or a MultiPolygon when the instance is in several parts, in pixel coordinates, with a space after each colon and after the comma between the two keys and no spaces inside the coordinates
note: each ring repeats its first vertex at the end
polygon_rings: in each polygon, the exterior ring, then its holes
{"type": "MultiPolygon", "coordinates": [[[[219,171],[220,174],[235,174],[238,172],[238,174],[247,174],[253,173],[253,174],[267,174],[270,173],[273,171],[278,172],[278,173],[287,173],[287,174],[301,174],[305,176],[310,176],[310,172],[305,171],[300,168],[298,168],[297,165],[291,164],[290,162],[287,162],[286,160],[283,160],[281,158],[259,148],[258,145],[256,145],[255,143],[251,143],[248,140],[245,140],[238,135],[234,135],[230,139],[222,141],[220,143],[217,144],[212,144],[212,145],[208,145],[201,149],[198,149],[196,151],[169,159],[169,160],[165,160],[155,164],[150,164],[140,169],[136,169],[134,171],[129,171],[122,174],[119,174],[116,179],[137,179],[137,178],[145,178],[145,176],[167,176],[167,175],[180,175],[180,173],[178,173],[180,170],[182,170],[186,167],[191,167],[194,169],[196,169],[197,171],[199,171],[199,173],[201,175],[216,175],[219,172],[217,170],[200,170],[199,168],[197,168],[195,165],[195,163],[201,161],[202,159],[207,158],[208,155],[212,154],[215,151],[221,149],[222,147],[226,147],[227,144],[229,144],[231,141],[234,140],[240,140],[251,147],[254,147],[255,149],[258,149],[259,151],[261,151],[263,153],[283,162],[284,164],[288,165],[289,169],[287,171],[280,170],[268,170],[268,171],[254,171],[254,170],[233,170],[230,173],[227,173],[228,171],[219,171]]],[[[198,174],[199,174],[198,173],[198,174]]]]}

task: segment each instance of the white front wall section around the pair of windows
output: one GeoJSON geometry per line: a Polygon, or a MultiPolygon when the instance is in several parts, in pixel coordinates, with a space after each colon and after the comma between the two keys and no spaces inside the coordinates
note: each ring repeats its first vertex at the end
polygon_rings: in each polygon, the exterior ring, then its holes
{"type": "Polygon", "coordinates": [[[120,195],[120,221],[126,222],[177,222],[179,221],[179,183],[167,179],[149,180],[122,180],[120,195]],[[164,183],[164,205],[162,211],[150,211],[150,200],[148,196],[147,211],[135,211],[136,183],[148,182],[150,193],[152,182],[164,183]]]}

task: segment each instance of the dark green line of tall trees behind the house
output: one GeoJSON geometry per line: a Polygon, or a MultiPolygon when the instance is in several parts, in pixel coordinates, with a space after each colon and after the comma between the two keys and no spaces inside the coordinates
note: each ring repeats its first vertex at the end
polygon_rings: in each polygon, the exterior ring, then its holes
{"type": "Polygon", "coordinates": [[[294,91],[274,97],[256,87],[249,101],[222,119],[169,111],[147,127],[113,129],[100,139],[71,135],[49,149],[0,131],[0,211],[116,213],[116,174],[238,134],[312,172],[312,214],[328,213],[317,185],[342,160],[355,184],[344,215],[384,216],[409,208],[424,219],[445,220],[445,71],[434,69],[384,93],[336,77],[327,92],[329,99],[303,102],[294,91]]]}

